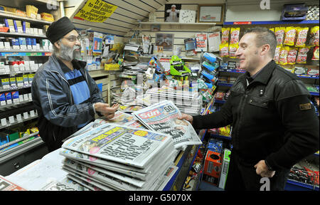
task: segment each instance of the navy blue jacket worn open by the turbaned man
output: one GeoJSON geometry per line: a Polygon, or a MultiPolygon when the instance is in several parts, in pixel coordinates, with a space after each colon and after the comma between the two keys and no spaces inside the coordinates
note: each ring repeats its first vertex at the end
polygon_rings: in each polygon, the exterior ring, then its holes
{"type": "Polygon", "coordinates": [[[89,102],[74,104],[70,85],[54,54],[41,65],[32,81],[31,93],[39,116],[39,135],[49,151],[58,149],[63,139],[78,130],[78,125],[94,120],[93,103],[104,102],[95,80],[85,69],[86,63],[73,60],[73,65],[85,77],[90,90],[89,102]]]}

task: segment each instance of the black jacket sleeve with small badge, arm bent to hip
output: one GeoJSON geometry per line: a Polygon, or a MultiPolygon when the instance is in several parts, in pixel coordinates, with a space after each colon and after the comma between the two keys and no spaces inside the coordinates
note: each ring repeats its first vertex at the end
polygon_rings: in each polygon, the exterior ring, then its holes
{"type": "Polygon", "coordinates": [[[265,160],[274,170],[290,169],[319,150],[319,118],[302,82],[286,83],[279,89],[277,98],[277,110],[286,135],[284,145],[265,160]]]}

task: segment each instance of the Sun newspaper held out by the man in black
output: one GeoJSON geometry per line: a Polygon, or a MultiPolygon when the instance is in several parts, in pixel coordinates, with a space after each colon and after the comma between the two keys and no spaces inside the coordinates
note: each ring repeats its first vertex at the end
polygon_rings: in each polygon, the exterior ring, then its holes
{"type": "Polygon", "coordinates": [[[169,100],[132,112],[132,115],[150,130],[171,135],[176,149],[186,145],[202,144],[190,122],[177,119],[181,112],[169,100]]]}

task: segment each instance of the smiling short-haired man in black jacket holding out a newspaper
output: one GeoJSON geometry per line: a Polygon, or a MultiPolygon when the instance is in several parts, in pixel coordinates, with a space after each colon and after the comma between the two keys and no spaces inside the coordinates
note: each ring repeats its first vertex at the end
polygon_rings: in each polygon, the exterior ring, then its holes
{"type": "Polygon", "coordinates": [[[181,117],[195,129],[233,126],[226,190],[260,190],[262,177],[270,179],[270,190],[283,190],[290,168],[319,150],[319,118],[310,94],[302,80],[274,63],[276,46],[272,31],[251,28],[236,52],[246,72],[223,107],[181,117]]]}

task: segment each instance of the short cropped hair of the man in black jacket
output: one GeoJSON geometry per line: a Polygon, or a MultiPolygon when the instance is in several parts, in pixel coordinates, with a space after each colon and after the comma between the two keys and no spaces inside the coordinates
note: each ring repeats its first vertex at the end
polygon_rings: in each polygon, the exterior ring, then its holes
{"type": "Polygon", "coordinates": [[[275,34],[269,29],[269,28],[263,28],[263,27],[254,27],[254,28],[248,28],[245,31],[246,33],[255,33],[255,44],[257,47],[260,47],[265,44],[270,45],[270,56],[273,58],[275,49],[277,47],[277,38],[275,34]]]}

